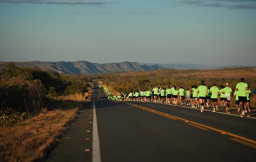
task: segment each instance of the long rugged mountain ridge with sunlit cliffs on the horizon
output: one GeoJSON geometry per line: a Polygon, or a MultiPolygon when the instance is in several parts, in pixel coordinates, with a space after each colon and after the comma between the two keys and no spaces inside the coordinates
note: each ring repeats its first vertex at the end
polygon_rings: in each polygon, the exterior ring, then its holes
{"type": "MultiPolygon", "coordinates": [[[[0,69],[7,62],[0,62],[0,69]]],[[[164,69],[159,65],[140,65],[137,62],[120,62],[120,63],[91,63],[88,61],[76,62],[15,62],[17,67],[52,69],[58,73],[72,75],[93,75],[102,73],[125,72],[125,71],[149,71],[164,69]]]]}

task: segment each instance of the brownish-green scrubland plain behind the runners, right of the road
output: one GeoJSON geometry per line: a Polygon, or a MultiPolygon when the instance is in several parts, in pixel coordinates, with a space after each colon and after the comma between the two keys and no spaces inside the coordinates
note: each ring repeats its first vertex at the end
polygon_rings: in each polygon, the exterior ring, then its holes
{"type": "MultiPolygon", "coordinates": [[[[96,79],[100,79],[103,84],[107,84],[112,94],[119,95],[121,92],[138,92],[139,90],[151,90],[154,86],[168,87],[175,85],[177,88],[183,86],[190,88],[192,85],[200,85],[202,80],[207,86],[212,86],[215,82],[217,87],[229,83],[229,87],[233,90],[236,84],[240,82],[240,78],[245,78],[245,82],[253,91],[256,87],[256,68],[222,68],[210,70],[198,69],[164,69],[144,72],[124,72],[109,75],[97,75],[96,79]]],[[[235,97],[230,102],[235,107],[235,97]]],[[[256,108],[256,95],[251,96],[251,107],[256,108]]]]}

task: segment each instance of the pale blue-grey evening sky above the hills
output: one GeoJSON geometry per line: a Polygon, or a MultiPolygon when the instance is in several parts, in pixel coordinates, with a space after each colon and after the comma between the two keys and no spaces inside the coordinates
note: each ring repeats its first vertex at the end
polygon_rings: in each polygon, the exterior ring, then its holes
{"type": "Polygon", "coordinates": [[[0,0],[0,61],[256,66],[256,0],[0,0]]]}

